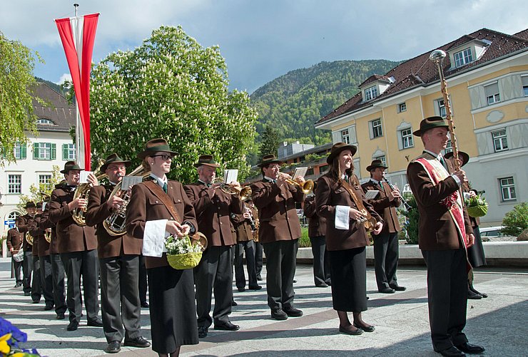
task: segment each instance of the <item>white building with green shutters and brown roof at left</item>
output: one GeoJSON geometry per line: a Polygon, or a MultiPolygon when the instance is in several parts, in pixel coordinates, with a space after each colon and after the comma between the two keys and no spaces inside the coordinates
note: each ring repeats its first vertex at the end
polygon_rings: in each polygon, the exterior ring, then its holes
{"type": "Polygon", "coordinates": [[[36,96],[46,105],[33,101],[38,135],[29,134],[29,145],[16,145],[16,162],[1,168],[0,173],[0,236],[4,236],[19,214],[17,205],[21,195],[30,195],[29,187],[48,184],[53,166],[64,167],[64,162],[75,160],[76,152],[69,133],[75,125],[75,108],[63,95],[44,83],[39,83],[36,96]]]}

